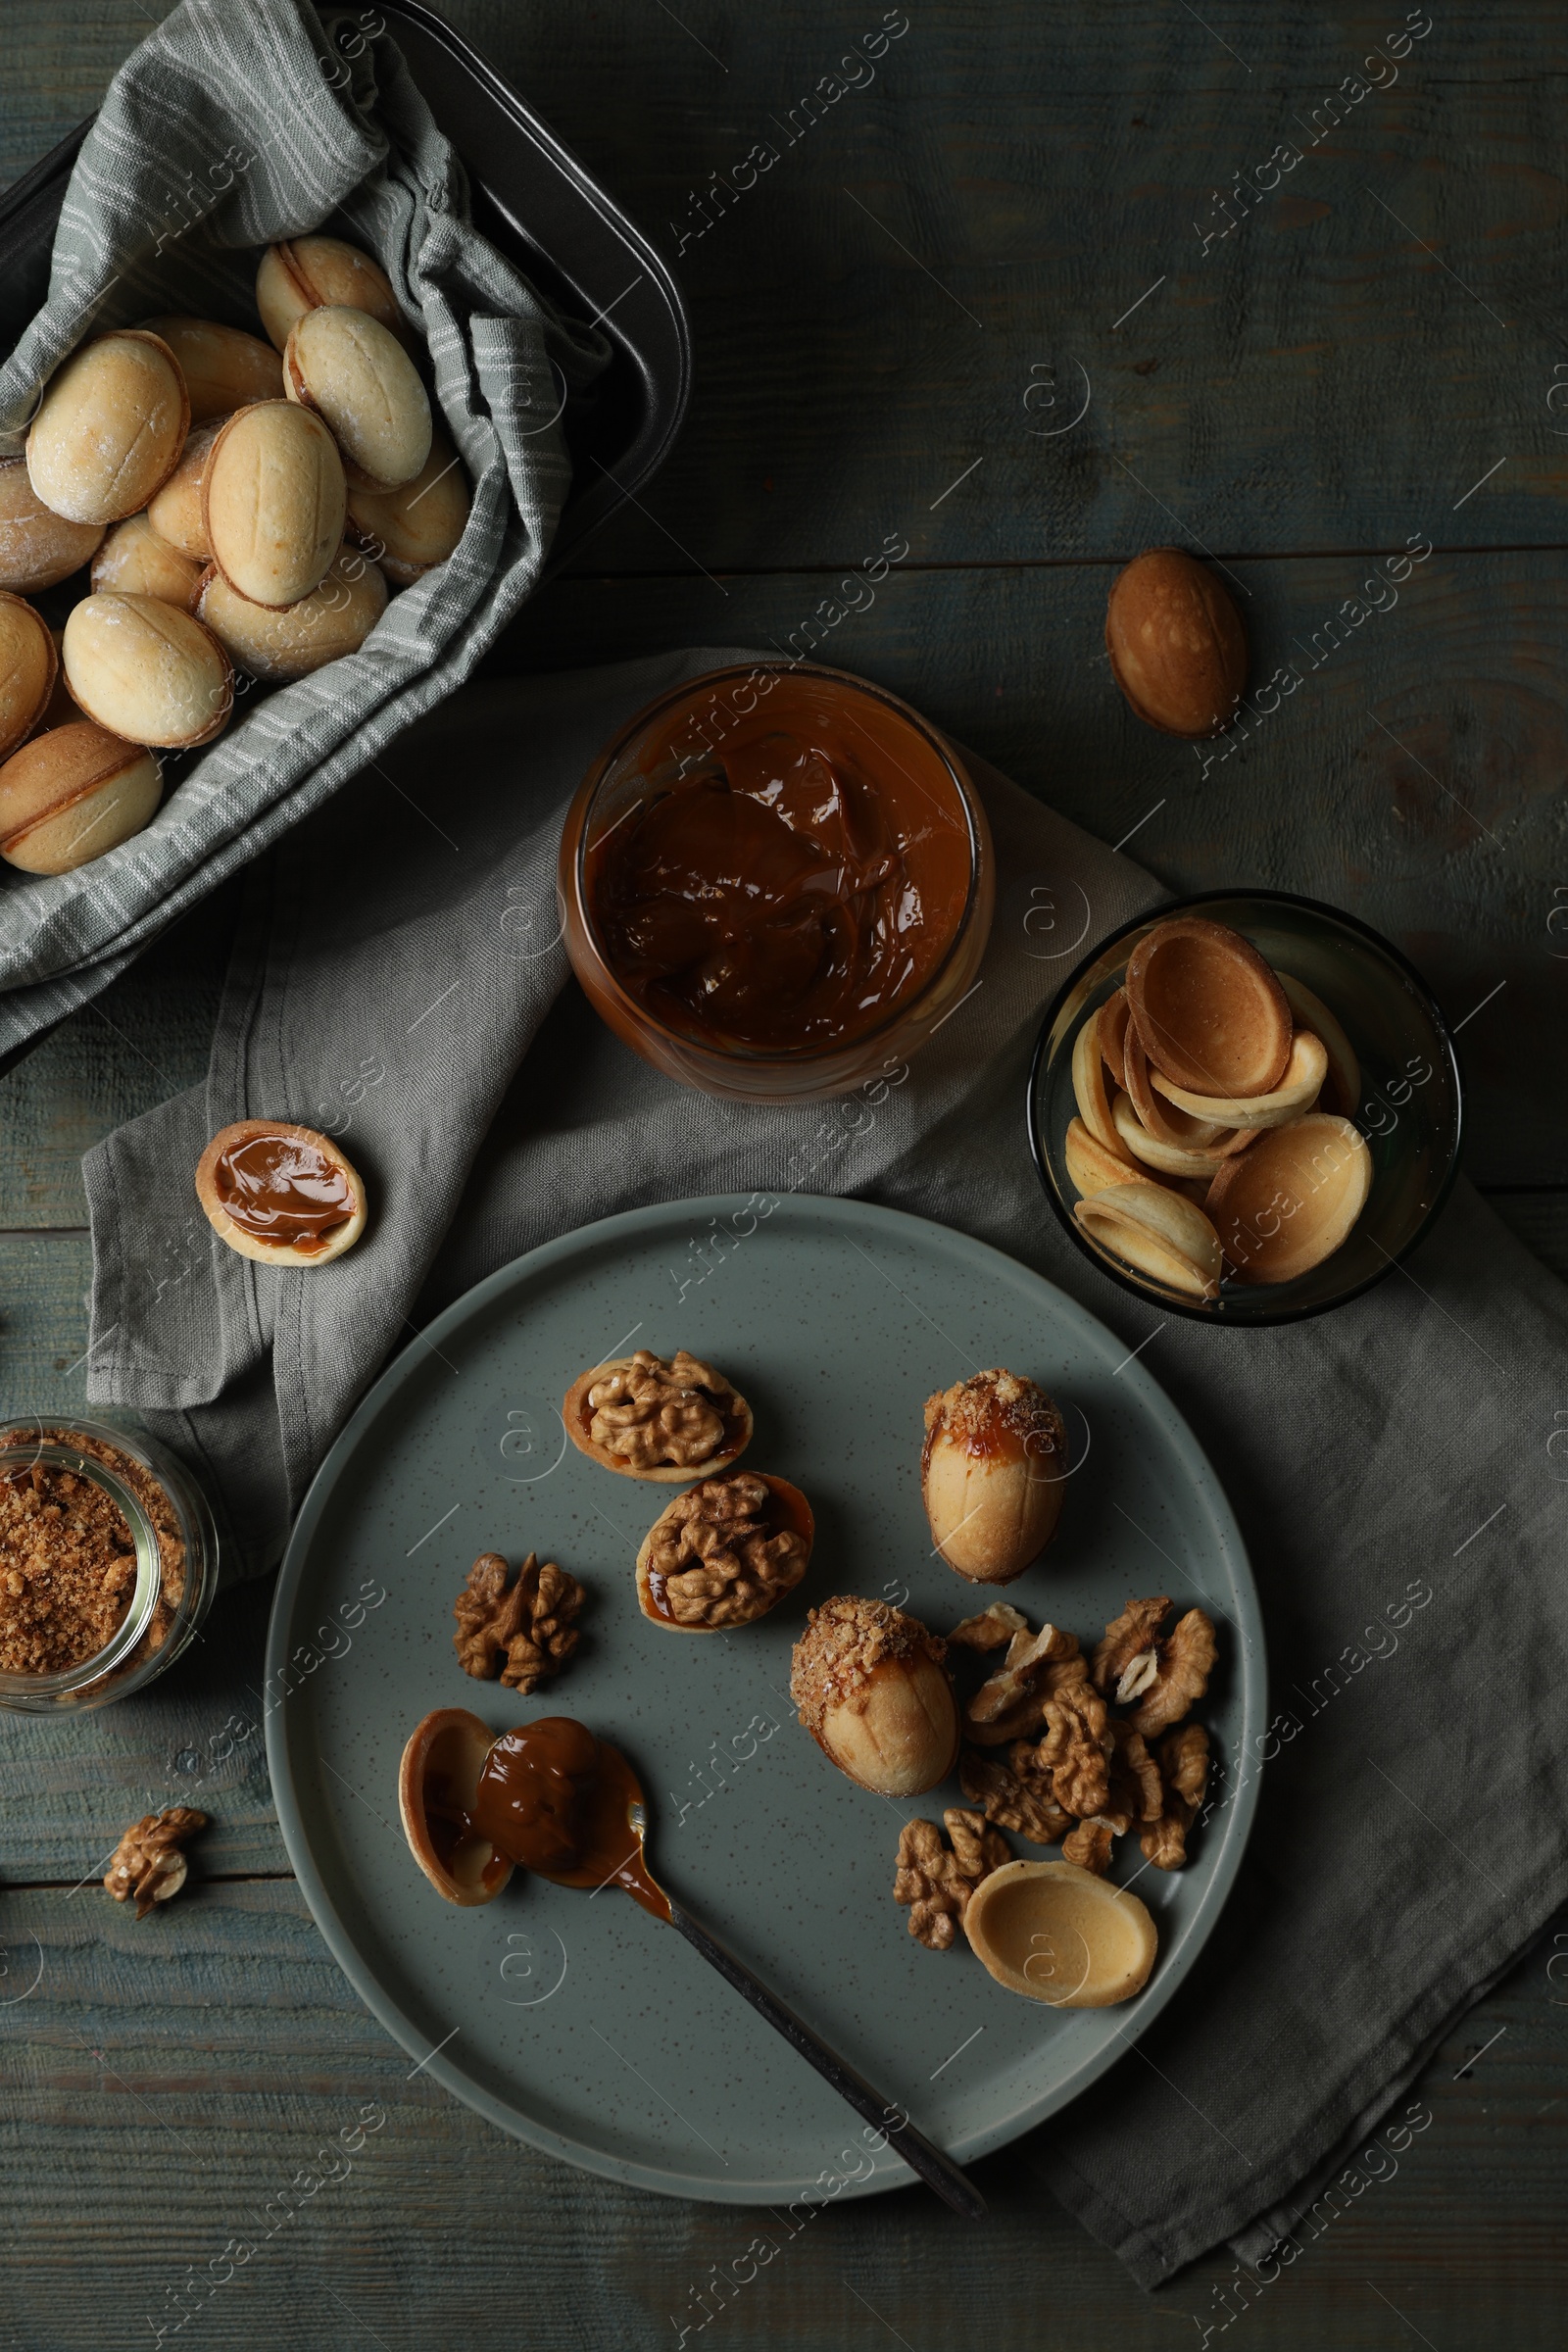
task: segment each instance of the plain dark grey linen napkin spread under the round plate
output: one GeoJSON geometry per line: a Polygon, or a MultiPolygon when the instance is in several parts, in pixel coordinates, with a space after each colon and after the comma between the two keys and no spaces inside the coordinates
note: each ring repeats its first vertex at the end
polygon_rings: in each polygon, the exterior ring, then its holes
{"type": "MultiPolygon", "coordinates": [[[[1225,2237],[1253,2260],[1288,2230],[1309,2244],[1333,2204],[1300,2220],[1302,2183],[1316,2194],[1568,1893],[1568,1489],[1547,1451],[1568,1294],[1465,1183],[1408,1268],[1316,1322],[1211,1331],[1098,1277],[1041,1202],[1025,1068],[1077,955],[1161,894],[980,762],[997,929],[907,1082],[875,1108],[748,1110],[658,1077],[562,988],[555,849],[609,729],[722,659],[475,687],[390,755],[395,795],[350,783],[256,868],[207,1087],[87,1157],[89,1392],[205,1456],[261,1569],[390,1348],[510,1256],[637,1202],[867,1195],[994,1242],[1147,1343],[1262,1588],[1262,1804],[1201,1964],[1034,2166],[1145,2284],[1225,2237]],[[209,1247],[190,1169],[254,1112],[336,1124],[364,1169],[374,1223],[341,1263],[209,1247]]],[[[689,1277],[708,1263],[693,1247],[689,1277]]]]}

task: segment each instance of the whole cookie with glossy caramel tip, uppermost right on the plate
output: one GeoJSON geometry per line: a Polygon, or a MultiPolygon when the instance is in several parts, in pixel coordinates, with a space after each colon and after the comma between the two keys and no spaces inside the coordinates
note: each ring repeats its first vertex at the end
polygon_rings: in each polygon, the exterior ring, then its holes
{"type": "Polygon", "coordinates": [[[978,1585],[1006,1585],[1056,1534],[1067,1479],[1063,1416],[1034,1381],[978,1371],[926,1397],[919,1491],[936,1550],[978,1585]]]}

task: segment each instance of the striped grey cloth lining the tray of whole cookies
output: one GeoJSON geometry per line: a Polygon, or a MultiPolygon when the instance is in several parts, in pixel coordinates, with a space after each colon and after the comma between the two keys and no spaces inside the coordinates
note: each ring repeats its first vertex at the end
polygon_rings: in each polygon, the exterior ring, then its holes
{"type": "Polygon", "coordinates": [[[73,875],[5,870],[0,1058],[451,694],[550,550],[571,480],[552,365],[583,383],[607,346],[562,327],[470,226],[458,158],[362,16],[183,0],[127,59],[66,191],[49,299],[0,367],[0,454],[24,447],[45,381],[94,334],[160,313],[261,334],[256,247],[327,228],[376,254],[423,329],[437,419],[473,480],[468,529],[357,654],[240,701],[209,750],[167,762],[176,788],[146,833],[73,875]]]}

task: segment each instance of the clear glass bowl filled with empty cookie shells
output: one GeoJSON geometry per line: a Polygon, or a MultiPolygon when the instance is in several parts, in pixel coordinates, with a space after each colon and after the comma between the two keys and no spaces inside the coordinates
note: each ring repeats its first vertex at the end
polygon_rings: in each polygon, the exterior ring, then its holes
{"type": "Polygon", "coordinates": [[[1453,1040],[1413,964],[1288,891],[1206,891],[1088,955],[1030,1068],[1046,1200],[1173,1315],[1345,1305],[1432,1225],[1460,1160],[1453,1040]]]}

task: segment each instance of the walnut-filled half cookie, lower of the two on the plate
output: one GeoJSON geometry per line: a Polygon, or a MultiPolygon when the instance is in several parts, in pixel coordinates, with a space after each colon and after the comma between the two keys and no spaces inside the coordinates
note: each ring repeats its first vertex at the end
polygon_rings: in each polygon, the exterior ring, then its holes
{"type": "Polygon", "coordinates": [[[816,1519],[799,1486],[729,1470],[679,1494],[637,1552],[637,1602],[670,1632],[755,1625],[806,1573],[816,1519]]]}

